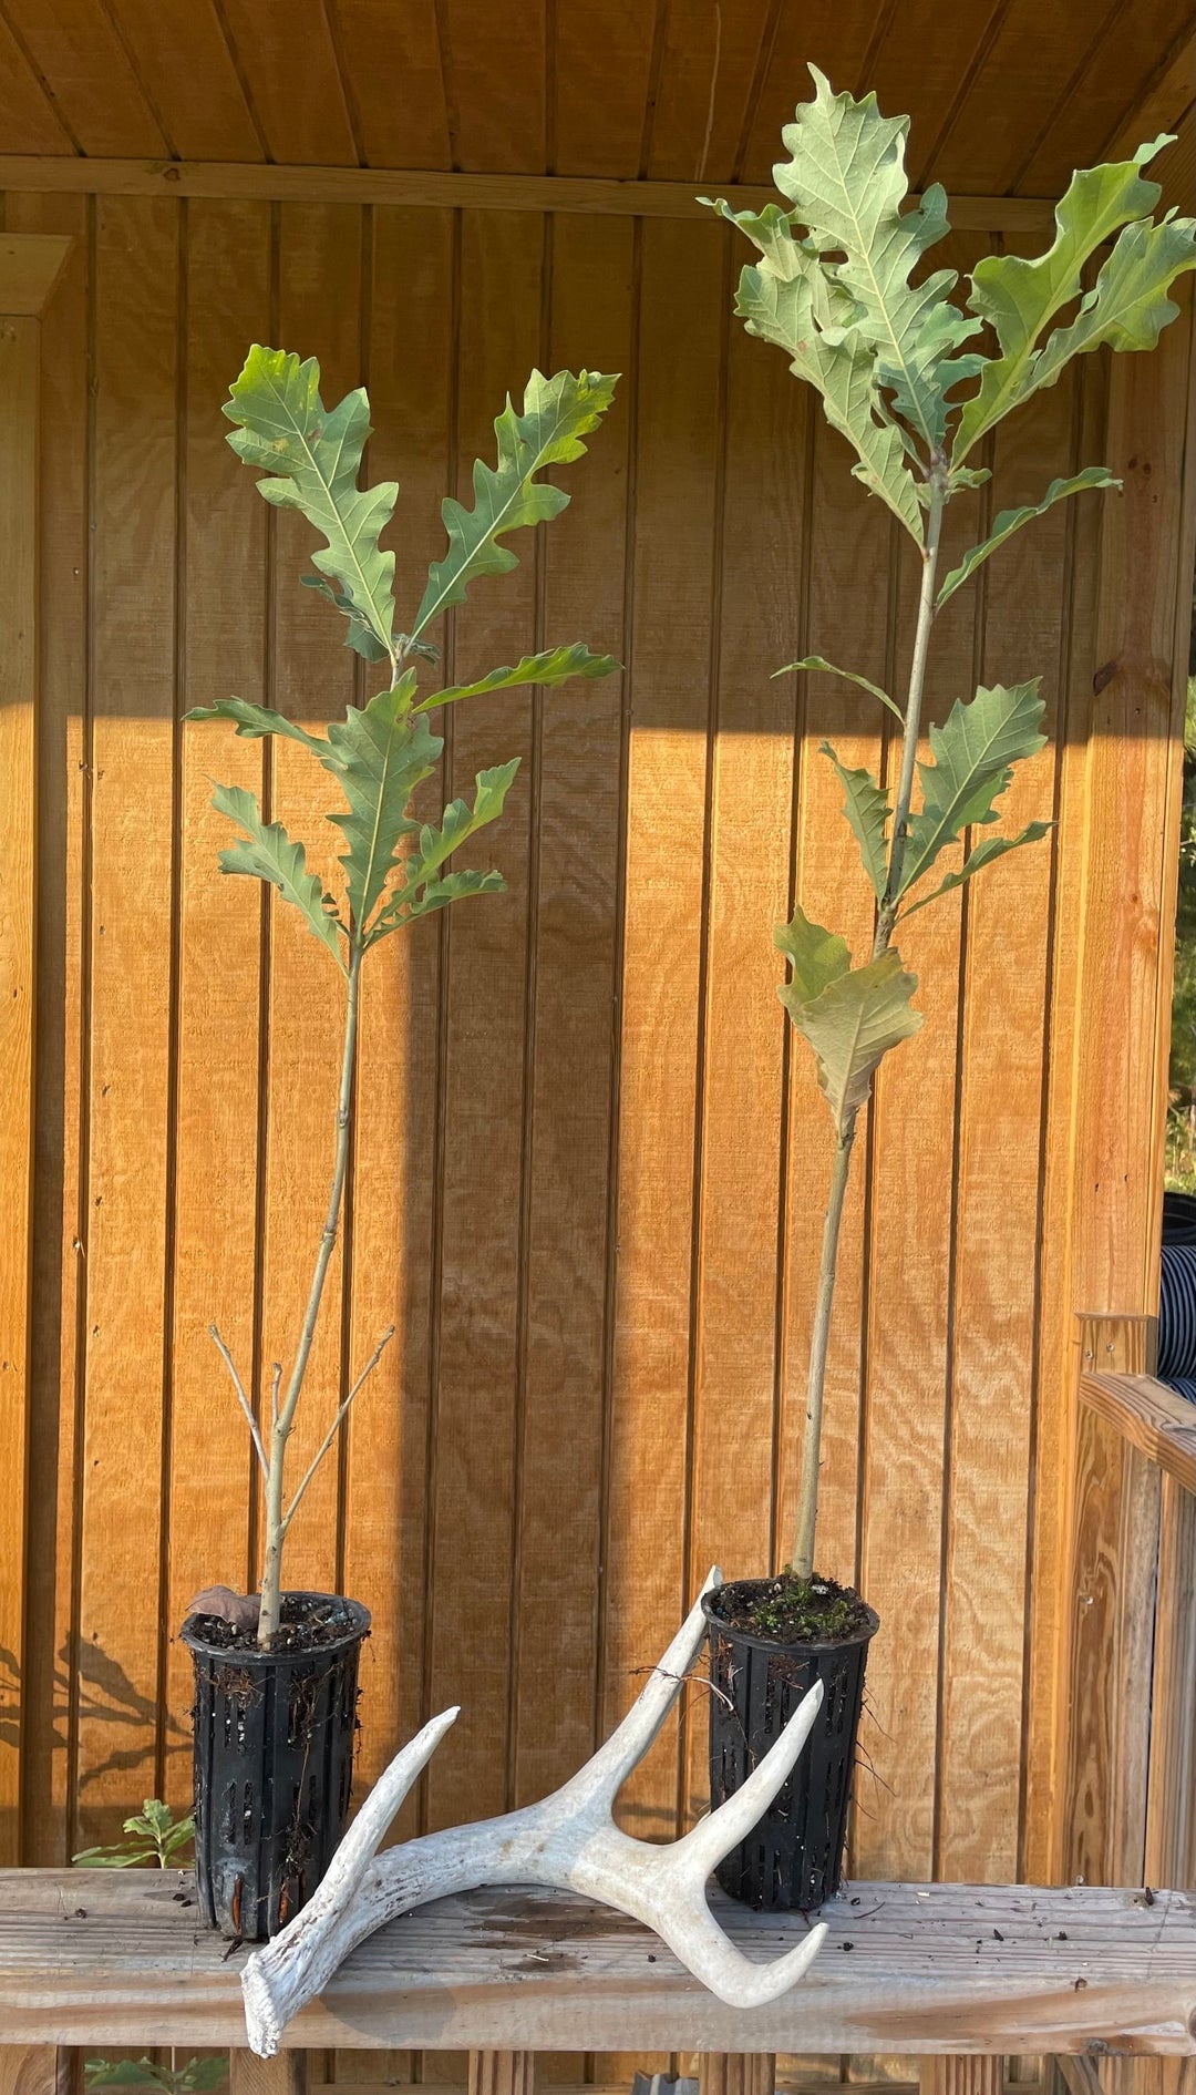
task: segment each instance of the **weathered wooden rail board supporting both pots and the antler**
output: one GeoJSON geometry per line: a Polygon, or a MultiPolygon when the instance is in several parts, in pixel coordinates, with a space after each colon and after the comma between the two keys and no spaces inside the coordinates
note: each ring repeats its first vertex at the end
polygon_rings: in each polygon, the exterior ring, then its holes
{"type": "MultiPolygon", "coordinates": [[[[716,1898],[773,1957],[800,1915],[716,1898]]],[[[232,2051],[232,2095],[302,2087],[302,2053],[469,2051],[475,2095],[530,2095],[536,2051],[700,2051],[706,2095],[765,2095],[773,2055],[913,2053],[926,2095],[999,2095],[1010,2053],[1196,2055],[1196,1896],[855,1883],[811,1978],[714,2001],[645,1927],[557,1892],[444,1898],[364,1942],[287,2030],[243,2047],[247,1950],[197,1925],[176,1871],[0,1873],[0,2095],[54,2095],[59,2047],[232,2051]]]]}

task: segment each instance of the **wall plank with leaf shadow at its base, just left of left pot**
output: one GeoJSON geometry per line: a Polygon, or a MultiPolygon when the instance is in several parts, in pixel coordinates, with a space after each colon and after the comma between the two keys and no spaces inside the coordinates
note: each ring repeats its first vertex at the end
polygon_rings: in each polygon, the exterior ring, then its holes
{"type": "MultiPolygon", "coordinates": [[[[176,679],[178,205],[96,258],[90,1171],[80,1833],[157,1787],[176,679]]],[[[77,1846],[84,1842],[80,1839],[77,1846]]]]}

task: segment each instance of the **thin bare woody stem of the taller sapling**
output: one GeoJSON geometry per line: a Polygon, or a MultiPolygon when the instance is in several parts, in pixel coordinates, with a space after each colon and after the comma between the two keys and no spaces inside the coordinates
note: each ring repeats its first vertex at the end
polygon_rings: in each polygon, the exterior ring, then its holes
{"type": "MultiPolygon", "coordinates": [[[[926,522],[926,549],[922,553],[922,589],[917,595],[917,631],[913,635],[913,656],[909,662],[909,696],[905,704],[905,729],[901,737],[901,775],[896,784],[896,807],[892,811],[892,836],[888,842],[888,869],[884,897],[876,920],[871,957],[888,951],[896,924],[896,903],[901,897],[901,867],[905,861],[905,838],[909,832],[909,802],[913,798],[913,767],[917,763],[917,731],[922,725],[922,696],[926,689],[926,656],[930,649],[930,629],[934,624],[934,576],[938,568],[938,543],[943,536],[943,511],[947,507],[947,467],[943,459],[930,465],[930,511],[926,522]]],[[[819,1286],[815,1297],[815,1320],[811,1328],[811,1366],[806,1376],[806,1423],[802,1433],[802,1477],[798,1485],[798,1517],[794,1525],[792,1569],[796,1578],[809,1580],[815,1571],[815,1531],[819,1519],[819,1462],[823,1433],[823,1402],[827,1381],[827,1349],[832,1330],[832,1307],[836,1291],[838,1247],[842,1236],[842,1213],[850,1175],[850,1152],[855,1144],[855,1123],[859,1106],[844,1117],[836,1133],[836,1154],[832,1167],[832,1188],[823,1223],[823,1251],[819,1261],[819,1286]]]]}

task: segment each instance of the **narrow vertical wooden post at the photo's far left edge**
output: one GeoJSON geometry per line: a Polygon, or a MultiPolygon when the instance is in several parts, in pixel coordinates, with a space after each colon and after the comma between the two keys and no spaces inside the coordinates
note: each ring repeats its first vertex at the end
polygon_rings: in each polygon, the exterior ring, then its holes
{"type": "MultiPolygon", "coordinates": [[[[0,1647],[13,1653],[17,1678],[25,1622],[34,1223],[38,365],[40,314],[69,247],[57,235],[0,239],[0,1477],[6,1492],[0,1647]]],[[[23,1695],[0,1745],[0,1865],[21,1860],[21,1703],[23,1695]]]]}

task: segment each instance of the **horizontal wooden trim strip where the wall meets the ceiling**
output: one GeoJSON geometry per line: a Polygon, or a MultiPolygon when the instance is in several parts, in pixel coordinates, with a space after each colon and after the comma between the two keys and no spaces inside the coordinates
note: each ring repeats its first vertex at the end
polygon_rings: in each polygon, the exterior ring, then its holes
{"type": "MultiPolygon", "coordinates": [[[[689,182],[618,182],[563,174],[434,174],[423,168],[285,168],[260,161],[77,159],[0,155],[0,189],[101,197],[262,197],[281,203],[402,203],[408,210],[591,212],[630,218],[706,218],[689,182]]],[[[723,189],[735,210],[775,203],[775,191],[723,189]]],[[[953,197],[951,224],[972,233],[1039,233],[1045,197],[953,197]]]]}

